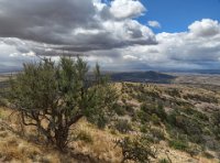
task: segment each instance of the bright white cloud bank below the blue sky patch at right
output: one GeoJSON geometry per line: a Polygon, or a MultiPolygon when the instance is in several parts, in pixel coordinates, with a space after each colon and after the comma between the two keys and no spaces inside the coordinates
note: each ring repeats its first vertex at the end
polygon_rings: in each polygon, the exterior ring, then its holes
{"type": "MultiPolygon", "coordinates": [[[[109,65],[106,63],[106,65],[123,70],[219,69],[220,32],[217,30],[220,28],[219,22],[211,19],[200,20],[193,22],[188,28],[191,30],[156,34],[158,42],[156,45],[133,45],[108,51],[108,56],[112,57],[111,63],[109,65]],[[197,26],[209,26],[209,30],[207,28],[196,30],[195,24],[197,26]],[[194,30],[191,26],[194,26],[194,30]],[[118,57],[113,54],[117,54],[118,57]]],[[[105,55],[106,52],[101,53],[105,55]]],[[[99,57],[99,62],[101,62],[101,57],[99,57]]]]}

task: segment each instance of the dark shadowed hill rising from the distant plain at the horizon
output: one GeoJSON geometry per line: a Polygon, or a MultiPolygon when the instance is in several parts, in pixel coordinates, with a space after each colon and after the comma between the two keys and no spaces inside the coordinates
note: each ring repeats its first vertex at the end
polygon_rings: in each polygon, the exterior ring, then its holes
{"type": "Polygon", "coordinates": [[[157,72],[132,72],[132,73],[112,73],[110,77],[113,82],[135,82],[135,83],[163,83],[168,84],[175,76],[157,72]]]}

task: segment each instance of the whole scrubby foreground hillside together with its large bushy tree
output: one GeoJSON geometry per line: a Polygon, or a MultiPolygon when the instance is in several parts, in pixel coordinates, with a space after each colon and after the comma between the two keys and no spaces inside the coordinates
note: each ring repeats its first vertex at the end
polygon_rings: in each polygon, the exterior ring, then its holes
{"type": "Polygon", "coordinates": [[[69,57],[24,64],[3,85],[0,162],[220,160],[218,86],[112,83],[69,57]]]}

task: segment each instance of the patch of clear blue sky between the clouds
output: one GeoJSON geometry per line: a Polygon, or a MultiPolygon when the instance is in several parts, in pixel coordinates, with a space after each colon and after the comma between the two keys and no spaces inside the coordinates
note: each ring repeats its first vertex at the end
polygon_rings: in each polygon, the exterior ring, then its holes
{"type": "Polygon", "coordinates": [[[220,20],[220,0],[142,0],[148,12],[138,20],[156,20],[163,28],[154,32],[183,32],[202,19],[220,20]]]}

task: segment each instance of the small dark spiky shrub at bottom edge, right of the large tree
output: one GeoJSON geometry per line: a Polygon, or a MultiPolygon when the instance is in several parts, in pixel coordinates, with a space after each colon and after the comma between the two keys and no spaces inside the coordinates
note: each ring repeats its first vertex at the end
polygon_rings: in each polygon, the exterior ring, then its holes
{"type": "Polygon", "coordinates": [[[125,137],[116,141],[116,144],[122,149],[122,163],[130,160],[134,162],[150,163],[151,159],[156,157],[156,151],[145,137],[136,135],[134,139],[125,137]]]}

